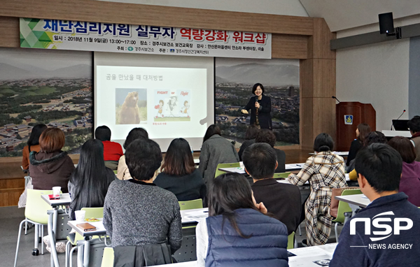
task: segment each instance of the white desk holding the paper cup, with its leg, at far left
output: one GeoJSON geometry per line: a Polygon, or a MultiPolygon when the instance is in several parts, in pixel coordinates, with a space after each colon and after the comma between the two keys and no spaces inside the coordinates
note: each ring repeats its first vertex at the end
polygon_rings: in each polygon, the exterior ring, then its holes
{"type": "Polygon", "coordinates": [[[58,216],[58,208],[61,205],[70,205],[71,199],[70,194],[61,194],[60,199],[50,200],[48,195],[41,195],[41,198],[51,205],[54,210],[48,210],[48,236],[50,238],[50,247],[51,247],[51,267],[59,267],[59,261],[57,257],[57,251],[55,250],[55,237],[57,231],[57,216],[58,216]]]}

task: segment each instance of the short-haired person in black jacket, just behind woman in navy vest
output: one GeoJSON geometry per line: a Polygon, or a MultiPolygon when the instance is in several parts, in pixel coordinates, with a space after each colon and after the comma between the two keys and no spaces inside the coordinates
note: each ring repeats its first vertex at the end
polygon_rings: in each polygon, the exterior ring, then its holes
{"type": "Polygon", "coordinates": [[[288,234],[296,231],[302,203],[295,185],[273,179],[277,166],[276,152],[266,143],[255,143],[244,151],[245,171],[253,178],[251,186],[255,201],[264,203],[268,212],[286,224],[288,234]]]}

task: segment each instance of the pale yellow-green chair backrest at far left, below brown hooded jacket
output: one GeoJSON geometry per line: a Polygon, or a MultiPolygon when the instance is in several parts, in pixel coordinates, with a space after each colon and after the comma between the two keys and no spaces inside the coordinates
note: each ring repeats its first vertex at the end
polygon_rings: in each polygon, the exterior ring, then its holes
{"type": "Polygon", "coordinates": [[[52,190],[27,189],[25,217],[39,224],[48,224],[47,211],[52,210],[52,207],[41,198],[41,195],[49,194],[52,194],[52,190]]]}

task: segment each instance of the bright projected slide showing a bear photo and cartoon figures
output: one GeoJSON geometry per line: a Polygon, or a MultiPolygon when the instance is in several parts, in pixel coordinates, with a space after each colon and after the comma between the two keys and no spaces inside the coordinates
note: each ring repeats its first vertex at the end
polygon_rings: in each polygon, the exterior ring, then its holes
{"type": "Polygon", "coordinates": [[[96,66],[96,87],[96,125],[110,127],[111,139],[143,127],[153,139],[197,138],[200,149],[209,125],[207,68],[96,66]]]}

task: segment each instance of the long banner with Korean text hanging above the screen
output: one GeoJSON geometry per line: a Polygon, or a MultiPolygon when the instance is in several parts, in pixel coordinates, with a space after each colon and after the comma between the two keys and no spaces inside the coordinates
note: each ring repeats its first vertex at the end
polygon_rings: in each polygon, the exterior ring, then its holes
{"type": "Polygon", "coordinates": [[[271,34],[20,18],[20,47],[271,58],[271,34]]]}

